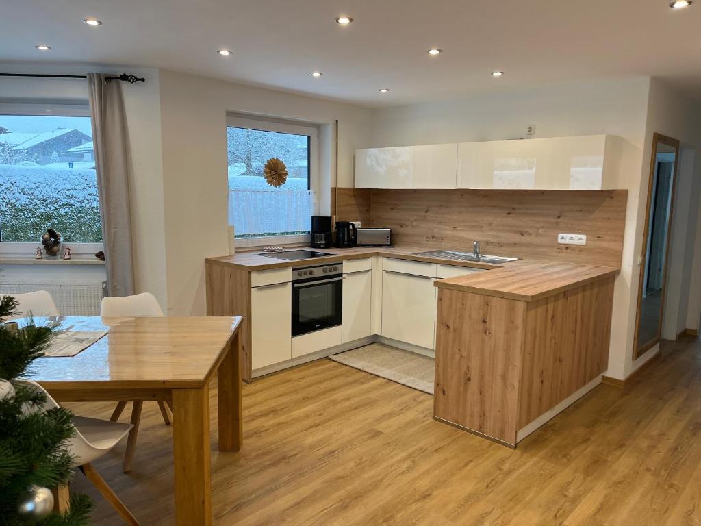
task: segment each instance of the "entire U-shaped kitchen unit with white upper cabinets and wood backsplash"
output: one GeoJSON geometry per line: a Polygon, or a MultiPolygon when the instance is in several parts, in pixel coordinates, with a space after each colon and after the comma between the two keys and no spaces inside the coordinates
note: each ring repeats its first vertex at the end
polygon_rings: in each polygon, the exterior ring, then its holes
{"type": "MultiPolygon", "coordinates": [[[[620,149],[618,137],[590,136],[359,150],[356,187],[332,189],[336,214],[311,217],[311,245],[207,259],[207,313],[245,313],[242,367],[249,381],[374,342],[435,357],[435,419],[516,447],[594,389],[607,369],[627,199],[616,189],[620,149]],[[482,323],[443,309],[460,301],[458,292],[482,295],[486,303],[474,307],[482,323]],[[590,300],[551,318],[565,332],[581,332],[577,320],[591,318],[593,332],[582,341],[524,336],[526,346],[535,337],[566,345],[553,350],[562,356],[550,357],[566,362],[563,370],[542,356],[538,364],[513,357],[519,378],[522,361],[536,368],[541,384],[571,377],[557,393],[529,393],[540,405],[519,429],[504,431],[504,422],[490,428],[464,407],[456,412],[464,399],[467,407],[488,405],[486,412],[517,418],[515,407],[482,400],[484,386],[477,396],[463,392],[471,389],[461,384],[461,371],[475,379],[505,372],[480,370],[477,356],[458,365],[461,344],[451,326],[474,325],[465,330],[477,332],[461,338],[477,353],[486,345],[477,344],[481,326],[485,334],[508,335],[515,323],[492,313],[490,298],[521,307],[587,294],[590,300]]],[[[510,382],[492,389],[526,389],[510,382]]]]}

